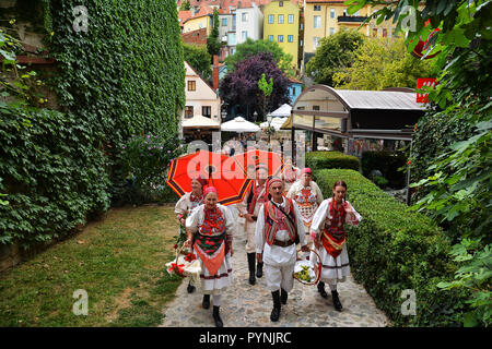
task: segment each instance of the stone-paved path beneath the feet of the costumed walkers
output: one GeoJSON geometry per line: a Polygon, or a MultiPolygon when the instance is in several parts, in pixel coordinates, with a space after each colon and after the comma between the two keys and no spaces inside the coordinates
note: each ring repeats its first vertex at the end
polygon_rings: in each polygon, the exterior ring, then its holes
{"type": "MultiPolygon", "coordinates": [[[[241,218],[239,218],[241,219],[241,218]]],[[[244,219],[244,218],[243,218],[244,219]]],[[[239,225],[241,227],[241,225],[239,225]]],[[[244,230],[239,229],[239,232],[244,230]]],[[[316,286],[294,281],[289,300],[282,305],[280,320],[270,321],[272,309],[271,293],[266,287],[265,274],[254,286],[248,284],[248,266],[245,252],[246,236],[234,237],[233,275],[234,281],[223,293],[221,317],[224,327],[384,327],[389,321],[378,310],[362,285],[352,277],[338,285],[343,310],[337,312],[331,302],[328,285],[328,299],[317,292],[316,286]]],[[[176,298],[166,304],[161,327],[210,327],[212,318],[212,298],[208,310],[201,308],[203,294],[200,289],[188,293],[188,278],[178,287],[176,298]]]]}

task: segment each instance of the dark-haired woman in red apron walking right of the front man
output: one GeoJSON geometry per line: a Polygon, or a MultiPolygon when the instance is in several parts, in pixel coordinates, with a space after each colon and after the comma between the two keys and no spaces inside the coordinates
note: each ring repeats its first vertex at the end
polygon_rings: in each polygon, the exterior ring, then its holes
{"type": "Polygon", "coordinates": [[[333,196],[321,203],[311,226],[311,238],[321,257],[321,277],[318,291],[323,298],[327,298],[325,282],[328,282],[337,311],[342,310],[337,284],[345,281],[347,276],[350,275],[344,225],[358,226],[362,219],[361,215],[344,200],[345,193],[345,182],[336,182],[333,196]]]}

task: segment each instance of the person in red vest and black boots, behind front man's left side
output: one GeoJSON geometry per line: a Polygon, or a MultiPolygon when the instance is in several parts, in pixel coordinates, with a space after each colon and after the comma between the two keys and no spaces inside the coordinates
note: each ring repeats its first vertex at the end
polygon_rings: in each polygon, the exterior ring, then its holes
{"type": "MultiPolygon", "coordinates": [[[[251,189],[245,195],[243,202],[237,204],[239,214],[246,218],[244,228],[247,234],[246,254],[248,258],[249,268],[249,284],[255,285],[255,264],[256,264],[256,244],[255,244],[255,228],[258,218],[258,213],[261,205],[268,201],[268,168],[263,164],[256,166],[256,180],[251,184],[251,189]]],[[[256,277],[260,278],[263,275],[263,264],[258,262],[256,277]]]]}

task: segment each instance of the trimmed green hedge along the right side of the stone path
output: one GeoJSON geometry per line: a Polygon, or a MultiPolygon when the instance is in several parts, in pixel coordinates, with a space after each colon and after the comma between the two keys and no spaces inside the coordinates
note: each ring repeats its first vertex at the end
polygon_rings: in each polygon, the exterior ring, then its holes
{"type": "Polygon", "coordinates": [[[353,170],[319,170],[316,179],[325,197],[337,180],[347,182],[347,198],[363,217],[348,230],[351,270],[393,325],[461,326],[468,294],[436,286],[452,281],[456,270],[443,230],[353,170]],[[415,291],[417,316],[401,314],[406,289],[415,291]]]}

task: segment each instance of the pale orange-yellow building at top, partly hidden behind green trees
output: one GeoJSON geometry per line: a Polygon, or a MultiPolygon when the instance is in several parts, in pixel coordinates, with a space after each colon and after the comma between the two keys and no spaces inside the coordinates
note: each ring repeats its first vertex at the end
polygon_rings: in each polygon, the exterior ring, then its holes
{"type": "Polygon", "coordinates": [[[349,15],[345,0],[305,0],[304,5],[304,58],[303,67],[307,60],[314,56],[319,40],[337,33],[340,27],[359,29],[366,36],[390,37],[394,36],[396,24],[393,20],[385,21],[379,25],[376,20],[368,24],[360,25],[368,15],[376,10],[371,5],[365,5],[356,13],[349,15]]]}

